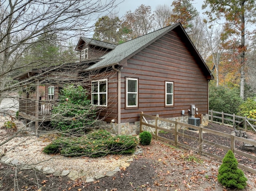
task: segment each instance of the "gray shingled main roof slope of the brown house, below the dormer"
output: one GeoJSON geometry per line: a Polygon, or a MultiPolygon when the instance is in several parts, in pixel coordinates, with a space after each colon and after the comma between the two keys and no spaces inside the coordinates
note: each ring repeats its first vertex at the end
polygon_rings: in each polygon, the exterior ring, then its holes
{"type": "Polygon", "coordinates": [[[132,55],[134,55],[134,53],[137,53],[138,51],[145,48],[156,39],[162,37],[164,34],[168,33],[177,25],[178,24],[171,25],[171,26],[162,28],[160,30],[157,30],[155,32],[148,33],[141,37],[132,39],[120,45],[117,45],[115,49],[113,49],[109,53],[100,57],[100,59],[102,59],[101,61],[88,67],[86,70],[93,70],[93,69],[102,68],[110,65],[116,65],[123,59],[130,58],[132,55]]]}

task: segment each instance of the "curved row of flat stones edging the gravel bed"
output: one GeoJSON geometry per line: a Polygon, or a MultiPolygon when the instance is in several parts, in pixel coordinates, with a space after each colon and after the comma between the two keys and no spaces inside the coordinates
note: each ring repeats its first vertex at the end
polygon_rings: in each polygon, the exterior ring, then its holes
{"type": "MultiPolygon", "coordinates": [[[[142,148],[140,148],[140,146],[138,146],[138,150],[136,150],[136,152],[134,152],[134,155],[138,155],[141,153],[142,153],[142,148]]],[[[133,161],[133,156],[132,156],[132,158],[128,159],[126,161],[126,163],[123,163],[121,165],[121,167],[129,167],[130,162],[133,161]]],[[[1,158],[1,161],[4,163],[10,163],[12,165],[16,165],[17,167],[20,167],[20,170],[36,169],[37,171],[41,171],[44,174],[52,174],[56,177],[64,176],[64,177],[68,177],[71,180],[75,180],[78,178],[84,178],[84,179],[86,179],[86,183],[93,182],[93,181],[95,181],[95,179],[101,179],[106,176],[113,176],[117,172],[121,171],[120,167],[118,166],[113,171],[106,172],[105,175],[99,174],[99,175],[95,175],[94,177],[86,177],[86,174],[84,174],[83,172],[79,173],[78,171],[69,171],[69,170],[63,170],[63,171],[56,170],[55,171],[52,167],[43,167],[42,165],[36,165],[35,167],[32,167],[31,165],[25,165],[24,163],[18,161],[18,159],[9,158],[8,156],[3,156],[1,158]]]]}

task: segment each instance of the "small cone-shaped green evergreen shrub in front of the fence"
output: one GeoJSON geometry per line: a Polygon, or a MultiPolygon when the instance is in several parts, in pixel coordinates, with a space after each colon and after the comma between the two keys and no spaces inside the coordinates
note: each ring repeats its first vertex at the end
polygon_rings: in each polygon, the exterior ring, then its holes
{"type": "Polygon", "coordinates": [[[227,152],[218,170],[218,181],[230,189],[244,189],[247,178],[244,172],[237,167],[238,162],[231,150],[227,152]]]}

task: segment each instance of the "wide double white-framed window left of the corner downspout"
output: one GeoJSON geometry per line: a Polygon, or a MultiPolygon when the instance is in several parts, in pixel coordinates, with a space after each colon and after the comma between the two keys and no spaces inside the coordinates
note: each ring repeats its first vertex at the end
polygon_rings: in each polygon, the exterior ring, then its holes
{"type": "Polygon", "coordinates": [[[107,106],[108,83],[107,79],[92,81],[92,105],[107,106]]]}

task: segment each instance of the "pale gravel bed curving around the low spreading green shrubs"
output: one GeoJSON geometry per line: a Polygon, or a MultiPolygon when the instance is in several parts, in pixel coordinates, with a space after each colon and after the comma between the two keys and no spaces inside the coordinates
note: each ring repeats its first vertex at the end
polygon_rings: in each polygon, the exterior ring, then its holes
{"type": "MultiPolygon", "coordinates": [[[[0,127],[4,126],[5,121],[10,121],[9,116],[0,114],[0,127]]],[[[14,120],[18,130],[26,129],[22,121],[14,120]]],[[[7,138],[12,136],[13,132],[6,128],[0,129],[0,144],[7,138]]],[[[60,155],[51,156],[42,152],[43,148],[50,144],[52,138],[45,135],[39,138],[29,131],[14,137],[8,143],[0,146],[0,152],[4,152],[5,156],[18,159],[20,163],[32,166],[51,167],[54,170],[78,171],[86,176],[93,177],[99,174],[106,174],[113,171],[116,167],[127,165],[127,161],[132,155],[117,156],[110,155],[102,158],[68,158],[60,155]]]]}

